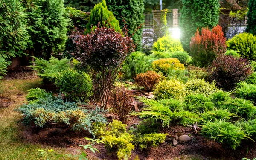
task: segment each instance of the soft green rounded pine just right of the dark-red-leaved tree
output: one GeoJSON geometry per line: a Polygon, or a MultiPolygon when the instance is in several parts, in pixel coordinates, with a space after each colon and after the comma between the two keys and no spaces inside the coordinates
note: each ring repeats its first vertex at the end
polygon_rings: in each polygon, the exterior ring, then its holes
{"type": "Polygon", "coordinates": [[[137,74],[151,70],[153,59],[142,52],[133,52],[122,64],[122,73],[125,79],[134,79],[137,74]]]}

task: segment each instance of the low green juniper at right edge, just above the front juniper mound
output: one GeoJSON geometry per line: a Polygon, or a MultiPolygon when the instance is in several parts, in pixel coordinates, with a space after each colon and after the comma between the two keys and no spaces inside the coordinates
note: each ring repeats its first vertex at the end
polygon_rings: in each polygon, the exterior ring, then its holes
{"type": "Polygon", "coordinates": [[[240,98],[230,99],[225,103],[224,108],[244,119],[253,118],[256,113],[256,107],[253,102],[240,98]]]}

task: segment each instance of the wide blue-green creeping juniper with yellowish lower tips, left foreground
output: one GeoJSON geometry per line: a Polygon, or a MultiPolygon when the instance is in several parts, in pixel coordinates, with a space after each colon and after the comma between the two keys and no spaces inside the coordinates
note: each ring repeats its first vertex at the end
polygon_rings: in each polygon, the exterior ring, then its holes
{"type": "Polygon", "coordinates": [[[93,136],[92,124],[107,122],[103,115],[104,110],[98,107],[91,111],[82,109],[75,102],[64,102],[61,95],[46,95],[34,103],[21,105],[18,111],[24,116],[23,123],[26,125],[34,122],[36,126],[43,128],[49,123],[65,124],[73,130],[88,130],[93,136]]]}

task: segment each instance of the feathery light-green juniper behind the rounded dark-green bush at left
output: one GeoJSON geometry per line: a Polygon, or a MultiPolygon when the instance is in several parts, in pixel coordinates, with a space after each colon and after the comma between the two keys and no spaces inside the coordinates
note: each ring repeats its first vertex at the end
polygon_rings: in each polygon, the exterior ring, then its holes
{"type": "Polygon", "coordinates": [[[66,58],[58,60],[57,58],[51,57],[49,61],[47,61],[43,58],[35,57],[33,63],[35,66],[32,65],[31,67],[37,71],[38,76],[43,79],[44,83],[54,83],[58,72],[67,70],[71,67],[70,60],[66,58]]]}

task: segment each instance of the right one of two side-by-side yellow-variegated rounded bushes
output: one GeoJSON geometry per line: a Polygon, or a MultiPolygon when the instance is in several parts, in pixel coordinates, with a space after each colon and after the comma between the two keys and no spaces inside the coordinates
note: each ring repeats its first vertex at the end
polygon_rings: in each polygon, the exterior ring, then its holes
{"type": "Polygon", "coordinates": [[[186,82],[185,90],[188,94],[203,94],[209,96],[212,93],[219,91],[216,87],[216,83],[204,81],[204,79],[192,79],[186,82]]]}

